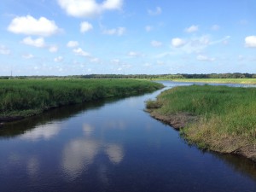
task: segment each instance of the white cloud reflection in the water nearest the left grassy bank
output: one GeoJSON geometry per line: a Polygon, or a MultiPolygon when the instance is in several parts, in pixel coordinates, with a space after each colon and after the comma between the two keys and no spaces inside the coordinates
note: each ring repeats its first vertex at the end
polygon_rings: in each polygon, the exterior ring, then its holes
{"type": "Polygon", "coordinates": [[[38,141],[41,139],[49,140],[50,138],[58,135],[60,131],[61,126],[58,124],[39,125],[32,131],[26,131],[26,133],[21,135],[20,138],[30,141],[38,141]]]}

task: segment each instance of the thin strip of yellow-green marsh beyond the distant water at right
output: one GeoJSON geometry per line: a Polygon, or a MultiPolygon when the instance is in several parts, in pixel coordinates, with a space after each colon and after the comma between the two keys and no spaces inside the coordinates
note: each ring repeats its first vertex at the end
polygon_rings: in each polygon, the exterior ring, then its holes
{"type": "Polygon", "coordinates": [[[256,84],[256,79],[171,79],[179,82],[201,82],[216,84],[256,84]]]}

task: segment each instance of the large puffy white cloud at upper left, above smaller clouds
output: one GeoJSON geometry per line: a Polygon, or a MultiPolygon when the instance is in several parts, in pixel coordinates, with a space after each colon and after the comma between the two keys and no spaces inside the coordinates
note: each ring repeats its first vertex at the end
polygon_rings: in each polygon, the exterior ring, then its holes
{"type": "Polygon", "coordinates": [[[15,17],[9,24],[8,30],[16,34],[38,36],[51,36],[60,31],[54,20],[48,20],[45,17],[37,20],[31,15],[15,17]]]}

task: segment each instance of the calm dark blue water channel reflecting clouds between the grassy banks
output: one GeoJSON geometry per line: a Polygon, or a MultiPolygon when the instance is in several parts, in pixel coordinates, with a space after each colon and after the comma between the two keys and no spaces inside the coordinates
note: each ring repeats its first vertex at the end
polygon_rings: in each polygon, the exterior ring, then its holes
{"type": "Polygon", "coordinates": [[[256,191],[252,161],[189,146],[143,111],[159,93],[55,109],[5,126],[0,191],[256,191]]]}

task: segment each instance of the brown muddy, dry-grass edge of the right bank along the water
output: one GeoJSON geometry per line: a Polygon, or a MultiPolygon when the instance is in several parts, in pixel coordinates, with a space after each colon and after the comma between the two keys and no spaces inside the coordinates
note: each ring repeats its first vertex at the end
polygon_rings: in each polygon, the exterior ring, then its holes
{"type": "Polygon", "coordinates": [[[184,127],[189,129],[189,125],[195,124],[199,118],[189,113],[177,113],[172,115],[162,115],[157,112],[155,109],[146,109],[148,113],[154,118],[158,119],[161,122],[171,125],[172,128],[177,131],[182,132],[183,138],[191,144],[195,144],[197,147],[215,151],[223,154],[237,154],[246,157],[249,160],[256,161],[256,145],[247,141],[244,137],[235,137],[235,136],[224,136],[224,137],[212,137],[212,139],[208,139],[207,142],[204,142],[204,145],[201,145],[200,140],[195,141],[190,137],[192,134],[191,131],[183,131],[184,127]],[[191,135],[189,134],[191,133],[191,135]]]}

